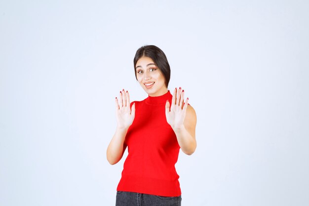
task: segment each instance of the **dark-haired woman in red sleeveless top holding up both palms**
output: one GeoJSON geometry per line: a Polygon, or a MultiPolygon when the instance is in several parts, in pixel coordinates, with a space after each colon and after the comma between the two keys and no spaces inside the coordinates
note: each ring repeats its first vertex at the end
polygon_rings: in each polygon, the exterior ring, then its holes
{"type": "Polygon", "coordinates": [[[116,98],[116,132],[107,149],[111,165],[128,147],[117,187],[116,206],[180,206],[181,190],[175,164],[179,149],[196,148],[196,114],[181,87],[167,89],[170,67],[164,52],[142,46],[134,57],[136,80],[148,94],[130,103],[122,89],[116,98]]]}

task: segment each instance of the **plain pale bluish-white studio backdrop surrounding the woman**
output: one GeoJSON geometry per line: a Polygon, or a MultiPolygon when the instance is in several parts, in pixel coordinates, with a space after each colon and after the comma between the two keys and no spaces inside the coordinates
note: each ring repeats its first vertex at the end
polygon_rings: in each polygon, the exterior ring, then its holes
{"type": "Polygon", "coordinates": [[[309,2],[0,1],[0,205],[113,206],[115,97],[166,54],[197,114],[183,206],[309,205],[309,2]]]}

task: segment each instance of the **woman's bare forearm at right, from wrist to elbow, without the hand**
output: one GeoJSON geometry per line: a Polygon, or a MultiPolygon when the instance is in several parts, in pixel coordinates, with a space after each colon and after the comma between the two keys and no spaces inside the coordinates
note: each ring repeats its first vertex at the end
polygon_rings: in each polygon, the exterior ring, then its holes
{"type": "Polygon", "coordinates": [[[181,150],[187,155],[192,155],[196,148],[195,136],[191,135],[184,125],[173,130],[181,150]]]}

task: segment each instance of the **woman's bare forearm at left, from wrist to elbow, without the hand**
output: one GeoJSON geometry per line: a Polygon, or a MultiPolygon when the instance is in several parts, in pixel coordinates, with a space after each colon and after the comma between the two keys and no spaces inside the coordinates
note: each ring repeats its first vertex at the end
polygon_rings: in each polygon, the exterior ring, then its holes
{"type": "Polygon", "coordinates": [[[128,128],[116,128],[116,132],[107,148],[107,160],[111,165],[115,165],[122,158],[124,147],[124,139],[128,128]]]}

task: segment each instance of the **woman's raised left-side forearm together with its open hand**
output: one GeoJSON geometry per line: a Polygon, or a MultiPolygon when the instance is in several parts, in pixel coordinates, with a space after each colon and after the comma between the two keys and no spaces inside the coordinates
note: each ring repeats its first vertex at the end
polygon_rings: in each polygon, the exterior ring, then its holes
{"type": "Polygon", "coordinates": [[[111,165],[118,163],[126,149],[124,143],[125,135],[128,131],[129,126],[133,123],[135,117],[135,104],[130,109],[130,96],[128,91],[120,91],[119,101],[116,98],[116,119],[117,128],[116,132],[107,148],[107,160],[111,165]]]}

